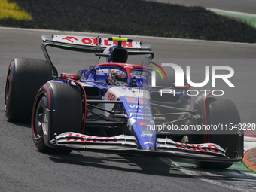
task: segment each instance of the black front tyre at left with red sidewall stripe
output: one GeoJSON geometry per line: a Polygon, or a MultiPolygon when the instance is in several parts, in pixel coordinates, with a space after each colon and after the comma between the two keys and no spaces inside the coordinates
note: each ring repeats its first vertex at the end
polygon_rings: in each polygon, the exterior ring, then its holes
{"type": "Polygon", "coordinates": [[[54,111],[48,124],[50,139],[54,133],[81,133],[82,99],[75,86],[49,81],[38,91],[32,113],[32,139],[39,151],[54,154],[69,154],[72,150],[50,148],[44,142],[45,111],[54,111]]]}

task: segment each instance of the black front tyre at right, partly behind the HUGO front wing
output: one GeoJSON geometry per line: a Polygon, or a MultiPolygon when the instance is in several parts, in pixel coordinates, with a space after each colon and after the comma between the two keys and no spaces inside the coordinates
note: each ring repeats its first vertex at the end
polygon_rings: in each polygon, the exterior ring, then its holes
{"type": "MultiPolygon", "coordinates": [[[[230,125],[235,126],[241,123],[239,111],[236,105],[229,99],[206,99],[206,118],[208,125],[230,125]]],[[[235,158],[236,151],[243,151],[243,132],[242,130],[221,130],[221,132],[215,132],[210,130],[209,136],[206,142],[215,143],[226,149],[229,157],[235,158]],[[221,134],[220,134],[221,133],[221,134]]],[[[221,163],[221,162],[204,162],[197,161],[197,165],[202,168],[210,169],[226,169],[232,166],[233,163],[221,163]]]]}

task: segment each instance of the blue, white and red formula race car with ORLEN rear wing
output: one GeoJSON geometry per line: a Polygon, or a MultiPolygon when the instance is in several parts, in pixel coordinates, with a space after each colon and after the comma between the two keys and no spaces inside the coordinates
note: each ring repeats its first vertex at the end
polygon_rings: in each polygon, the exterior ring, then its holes
{"type": "Polygon", "coordinates": [[[156,84],[151,45],[130,38],[42,36],[46,60],[14,59],[5,87],[9,121],[30,122],[39,151],[72,150],[195,160],[224,169],[243,157],[239,111],[229,99],[199,96],[190,110],[184,87],[156,84]],[[46,47],[94,53],[99,61],[59,75],[46,47]],[[130,56],[144,55],[141,65],[130,56]],[[169,94],[162,94],[168,90],[169,94]],[[230,129],[229,125],[237,125],[230,129]]]}

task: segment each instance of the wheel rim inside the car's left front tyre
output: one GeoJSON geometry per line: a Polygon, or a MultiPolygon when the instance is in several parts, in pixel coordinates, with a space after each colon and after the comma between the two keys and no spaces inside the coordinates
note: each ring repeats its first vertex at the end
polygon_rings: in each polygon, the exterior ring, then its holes
{"type": "Polygon", "coordinates": [[[43,135],[43,123],[45,108],[47,107],[47,98],[43,95],[38,97],[38,102],[35,109],[35,114],[33,115],[33,132],[35,139],[41,139],[43,135]]]}

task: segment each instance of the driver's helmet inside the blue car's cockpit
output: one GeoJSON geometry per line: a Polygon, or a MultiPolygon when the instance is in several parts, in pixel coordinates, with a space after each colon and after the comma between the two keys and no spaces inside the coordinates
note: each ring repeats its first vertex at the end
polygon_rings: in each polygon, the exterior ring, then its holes
{"type": "Polygon", "coordinates": [[[120,69],[111,69],[108,75],[108,84],[109,85],[119,85],[126,86],[127,85],[127,75],[125,72],[120,69]]]}

